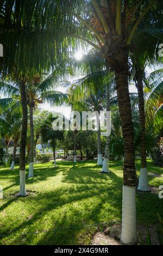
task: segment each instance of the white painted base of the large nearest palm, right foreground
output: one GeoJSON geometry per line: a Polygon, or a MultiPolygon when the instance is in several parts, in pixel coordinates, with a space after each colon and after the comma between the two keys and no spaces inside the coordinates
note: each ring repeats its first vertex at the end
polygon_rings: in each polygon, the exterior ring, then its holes
{"type": "Polygon", "coordinates": [[[133,245],[136,240],[136,187],[123,185],[121,241],[133,245]]]}

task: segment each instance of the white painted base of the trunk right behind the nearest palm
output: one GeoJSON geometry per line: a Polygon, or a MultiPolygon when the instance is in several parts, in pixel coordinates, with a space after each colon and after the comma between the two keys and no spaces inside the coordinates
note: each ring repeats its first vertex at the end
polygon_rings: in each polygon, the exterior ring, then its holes
{"type": "Polygon", "coordinates": [[[141,168],[140,169],[139,185],[137,187],[137,190],[150,191],[150,188],[149,188],[149,185],[148,185],[147,168],[141,168]]]}

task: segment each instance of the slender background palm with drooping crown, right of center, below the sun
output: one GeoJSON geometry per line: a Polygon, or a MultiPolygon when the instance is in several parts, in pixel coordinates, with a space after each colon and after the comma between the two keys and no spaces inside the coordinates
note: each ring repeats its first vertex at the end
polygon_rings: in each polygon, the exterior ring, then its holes
{"type": "Polygon", "coordinates": [[[112,86],[111,93],[113,96],[113,81],[114,79],[112,74],[109,74],[107,70],[101,70],[91,72],[83,78],[79,78],[78,80],[73,81],[70,88],[70,94],[73,95],[74,100],[82,100],[87,106],[87,110],[95,111],[96,113],[98,165],[103,165],[101,153],[101,125],[99,121],[99,114],[101,111],[104,111],[106,107],[105,83],[108,83],[110,87],[112,86]]]}

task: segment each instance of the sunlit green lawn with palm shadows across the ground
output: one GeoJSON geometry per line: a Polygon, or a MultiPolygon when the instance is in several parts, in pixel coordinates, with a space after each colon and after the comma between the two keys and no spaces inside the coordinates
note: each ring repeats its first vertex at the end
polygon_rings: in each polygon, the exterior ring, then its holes
{"type": "MultiPolygon", "coordinates": [[[[137,169],[140,161],[137,161],[137,169]]],[[[26,167],[28,170],[28,165],[26,167]]],[[[34,178],[26,179],[31,196],[15,197],[19,190],[18,166],[0,168],[1,245],[87,245],[101,222],[121,221],[122,162],[110,162],[110,174],[100,174],[95,161],[58,161],[35,164],[34,178]]],[[[163,168],[148,161],[148,170],[163,174],[163,168]]],[[[149,176],[150,185],[163,185],[163,178],[149,176]]],[[[137,192],[137,223],[158,223],[163,199],[158,194],[137,192]]]]}

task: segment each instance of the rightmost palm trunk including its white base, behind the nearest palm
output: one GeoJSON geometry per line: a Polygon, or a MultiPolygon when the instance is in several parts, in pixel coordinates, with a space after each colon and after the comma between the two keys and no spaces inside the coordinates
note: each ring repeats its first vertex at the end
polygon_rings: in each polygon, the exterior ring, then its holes
{"type": "Polygon", "coordinates": [[[137,92],[139,97],[139,124],[140,124],[140,150],[141,150],[141,169],[139,185],[137,190],[149,191],[147,161],[146,161],[146,127],[145,127],[145,101],[143,95],[143,70],[136,72],[137,92]]]}

